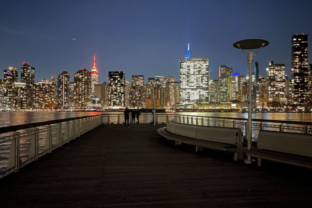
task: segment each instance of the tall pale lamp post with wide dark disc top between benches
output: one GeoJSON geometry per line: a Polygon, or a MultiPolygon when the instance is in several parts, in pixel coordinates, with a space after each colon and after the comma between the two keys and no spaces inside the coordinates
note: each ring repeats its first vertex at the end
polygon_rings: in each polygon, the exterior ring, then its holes
{"type": "MultiPolygon", "coordinates": [[[[252,80],[252,61],[254,56],[256,55],[256,53],[262,48],[269,45],[269,41],[264,40],[264,39],[257,39],[257,38],[253,38],[253,39],[245,39],[245,40],[241,40],[241,41],[237,41],[233,44],[233,46],[235,48],[239,48],[241,49],[244,54],[247,56],[247,61],[249,64],[249,68],[248,68],[248,74],[249,74],[249,78],[248,78],[248,121],[247,121],[247,148],[248,150],[251,150],[252,148],[252,132],[251,132],[251,125],[252,125],[252,101],[251,101],[251,80],[252,80]],[[249,49],[258,49],[256,51],[256,53],[254,52],[249,52],[246,53],[243,49],[249,50],[249,49]]],[[[247,156],[247,159],[244,160],[245,163],[247,164],[251,164],[254,162],[254,160],[251,159],[251,156],[247,156]]]]}

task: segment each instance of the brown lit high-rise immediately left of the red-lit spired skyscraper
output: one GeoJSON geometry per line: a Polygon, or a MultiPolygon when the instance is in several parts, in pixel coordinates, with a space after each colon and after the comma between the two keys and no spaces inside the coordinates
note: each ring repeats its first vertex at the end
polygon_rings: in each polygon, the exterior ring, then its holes
{"type": "Polygon", "coordinates": [[[74,75],[75,108],[87,108],[91,97],[91,72],[83,68],[74,75]]]}

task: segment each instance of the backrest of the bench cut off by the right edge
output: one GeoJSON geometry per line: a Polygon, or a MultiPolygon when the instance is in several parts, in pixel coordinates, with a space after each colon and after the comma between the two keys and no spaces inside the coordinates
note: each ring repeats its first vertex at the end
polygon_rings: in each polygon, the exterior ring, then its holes
{"type": "Polygon", "coordinates": [[[302,133],[260,130],[257,148],[312,157],[312,136],[302,133]]]}

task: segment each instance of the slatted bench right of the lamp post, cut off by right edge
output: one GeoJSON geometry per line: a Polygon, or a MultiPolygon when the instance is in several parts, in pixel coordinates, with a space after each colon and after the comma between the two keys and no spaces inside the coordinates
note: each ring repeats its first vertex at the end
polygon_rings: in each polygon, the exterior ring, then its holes
{"type": "Polygon", "coordinates": [[[260,130],[257,148],[246,155],[291,165],[312,168],[312,135],[260,130]]]}

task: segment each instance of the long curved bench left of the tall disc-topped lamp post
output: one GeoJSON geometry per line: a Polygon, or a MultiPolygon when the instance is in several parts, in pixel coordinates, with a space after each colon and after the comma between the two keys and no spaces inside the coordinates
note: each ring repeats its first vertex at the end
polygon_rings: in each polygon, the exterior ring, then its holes
{"type": "Polygon", "coordinates": [[[199,126],[169,121],[158,133],[176,145],[196,145],[196,152],[203,148],[234,152],[234,160],[243,159],[243,145],[240,128],[199,126]]]}

